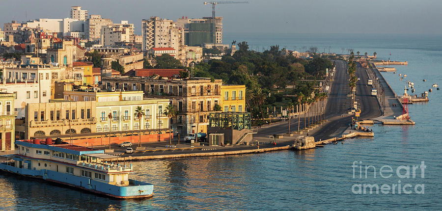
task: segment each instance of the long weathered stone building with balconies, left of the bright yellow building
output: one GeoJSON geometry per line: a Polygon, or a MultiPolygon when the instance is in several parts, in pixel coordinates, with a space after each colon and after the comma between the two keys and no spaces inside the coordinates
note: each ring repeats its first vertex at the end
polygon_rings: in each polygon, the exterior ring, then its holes
{"type": "Polygon", "coordinates": [[[145,77],[105,77],[103,89],[143,90],[145,96],[169,99],[177,109],[174,131],[181,135],[207,132],[208,116],[221,104],[221,79],[149,79],[145,77]]]}

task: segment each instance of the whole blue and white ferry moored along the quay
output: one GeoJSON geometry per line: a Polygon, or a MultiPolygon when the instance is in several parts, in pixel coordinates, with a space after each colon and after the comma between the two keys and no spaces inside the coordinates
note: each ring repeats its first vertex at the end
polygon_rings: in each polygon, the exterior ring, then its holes
{"type": "Polygon", "coordinates": [[[19,153],[6,156],[0,170],[26,177],[81,188],[115,198],[143,198],[153,194],[153,185],[128,178],[132,164],[111,162],[120,158],[97,150],[51,139],[15,141],[19,153]]]}

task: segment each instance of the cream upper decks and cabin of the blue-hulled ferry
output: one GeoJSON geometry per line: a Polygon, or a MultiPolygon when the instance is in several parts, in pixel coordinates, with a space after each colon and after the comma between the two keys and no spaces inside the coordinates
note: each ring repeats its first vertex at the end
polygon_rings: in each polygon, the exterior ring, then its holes
{"type": "Polygon", "coordinates": [[[104,150],[65,142],[53,144],[51,139],[22,140],[15,144],[19,153],[14,155],[13,165],[18,168],[42,171],[43,175],[48,172],[69,174],[88,179],[89,184],[92,180],[109,185],[130,185],[128,175],[133,172],[132,164],[112,162],[111,159],[120,157],[105,154],[104,150]]]}

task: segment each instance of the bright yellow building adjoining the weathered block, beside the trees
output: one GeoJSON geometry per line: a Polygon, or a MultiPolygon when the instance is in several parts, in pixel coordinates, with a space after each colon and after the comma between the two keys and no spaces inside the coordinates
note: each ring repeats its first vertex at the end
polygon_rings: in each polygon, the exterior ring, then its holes
{"type": "Polygon", "coordinates": [[[246,111],[246,85],[221,85],[223,112],[246,111]]]}

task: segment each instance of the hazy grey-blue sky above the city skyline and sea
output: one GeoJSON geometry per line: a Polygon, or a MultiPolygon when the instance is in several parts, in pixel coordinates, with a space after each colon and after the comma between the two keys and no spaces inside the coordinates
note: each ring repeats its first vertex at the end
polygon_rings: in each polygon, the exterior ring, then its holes
{"type": "MultiPolygon", "coordinates": [[[[67,18],[74,4],[114,23],[128,20],[137,34],[141,20],[151,16],[212,15],[203,0],[2,0],[0,23],[24,21],[25,14],[28,20],[67,18]]],[[[216,6],[224,32],[442,34],[441,11],[442,0],[249,0],[216,6]]]]}

